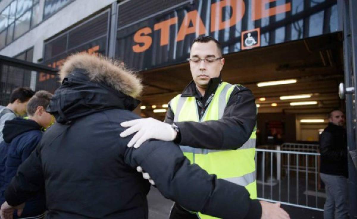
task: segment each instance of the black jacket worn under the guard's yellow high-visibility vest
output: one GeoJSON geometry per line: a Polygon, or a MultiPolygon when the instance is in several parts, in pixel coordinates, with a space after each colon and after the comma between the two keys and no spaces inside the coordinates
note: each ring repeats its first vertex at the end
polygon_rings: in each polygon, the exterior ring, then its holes
{"type": "MultiPolygon", "coordinates": [[[[198,112],[192,113],[203,115],[210,104],[210,96],[216,92],[220,83],[219,77],[212,78],[204,97],[197,91],[193,81],[187,85],[182,92],[182,97],[196,98],[198,112]]],[[[174,117],[175,114],[169,105],[165,122],[172,124],[174,117]]],[[[175,142],[178,145],[190,145],[196,148],[237,149],[249,139],[256,122],[257,108],[252,92],[248,88],[236,85],[221,119],[205,122],[175,122],[180,129],[180,135],[175,142]]]]}

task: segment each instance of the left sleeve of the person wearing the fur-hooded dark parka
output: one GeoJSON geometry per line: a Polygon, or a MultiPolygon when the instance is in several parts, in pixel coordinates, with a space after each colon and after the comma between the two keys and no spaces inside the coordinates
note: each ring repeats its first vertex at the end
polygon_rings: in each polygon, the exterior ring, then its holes
{"type": "Polygon", "coordinates": [[[11,206],[24,203],[27,199],[44,191],[45,180],[40,158],[41,146],[38,145],[31,155],[19,166],[5,191],[5,200],[11,206]]]}

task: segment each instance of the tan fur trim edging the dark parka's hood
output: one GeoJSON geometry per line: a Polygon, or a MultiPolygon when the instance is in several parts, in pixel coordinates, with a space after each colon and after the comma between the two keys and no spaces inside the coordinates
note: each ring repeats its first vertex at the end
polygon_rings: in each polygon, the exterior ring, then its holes
{"type": "Polygon", "coordinates": [[[105,82],[115,90],[131,97],[138,97],[142,91],[141,80],[137,75],[127,70],[122,64],[104,56],[88,53],[77,53],[67,58],[60,70],[63,80],[75,68],[85,69],[91,80],[105,82]]]}

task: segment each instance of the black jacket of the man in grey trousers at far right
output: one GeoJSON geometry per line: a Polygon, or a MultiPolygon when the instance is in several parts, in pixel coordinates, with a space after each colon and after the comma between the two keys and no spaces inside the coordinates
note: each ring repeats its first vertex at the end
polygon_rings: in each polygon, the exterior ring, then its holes
{"type": "Polygon", "coordinates": [[[320,172],[348,177],[347,132],[329,123],[320,137],[320,172]]]}

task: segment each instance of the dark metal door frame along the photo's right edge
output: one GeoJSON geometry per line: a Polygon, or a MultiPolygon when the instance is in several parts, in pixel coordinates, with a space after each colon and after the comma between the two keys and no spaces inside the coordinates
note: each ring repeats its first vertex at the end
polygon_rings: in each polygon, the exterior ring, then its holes
{"type": "Polygon", "coordinates": [[[348,194],[350,218],[357,219],[357,173],[356,173],[356,115],[357,115],[357,11],[356,0],[338,1],[343,23],[343,56],[345,62],[345,86],[340,87],[340,97],[346,96],[346,126],[348,146],[348,194]],[[346,94],[346,95],[345,95],[346,94]]]}

